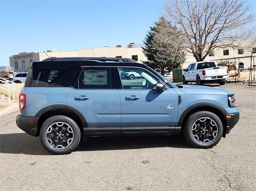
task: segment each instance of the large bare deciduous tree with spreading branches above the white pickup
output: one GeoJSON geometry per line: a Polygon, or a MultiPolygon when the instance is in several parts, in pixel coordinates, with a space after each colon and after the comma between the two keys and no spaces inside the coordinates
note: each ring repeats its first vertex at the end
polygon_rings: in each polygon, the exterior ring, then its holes
{"type": "Polygon", "coordinates": [[[244,0],[171,0],[164,10],[197,61],[217,47],[255,46],[254,14],[244,0]]]}

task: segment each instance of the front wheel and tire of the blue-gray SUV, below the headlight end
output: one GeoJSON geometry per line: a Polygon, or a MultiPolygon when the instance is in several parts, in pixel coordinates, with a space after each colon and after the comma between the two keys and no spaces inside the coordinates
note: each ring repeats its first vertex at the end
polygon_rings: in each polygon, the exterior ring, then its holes
{"type": "Polygon", "coordinates": [[[195,148],[212,148],[218,144],[222,138],[222,134],[223,125],[220,118],[209,111],[199,111],[192,114],[188,117],[184,126],[184,137],[195,148]],[[201,122],[204,119],[205,121],[201,122]],[[205,127],[200,127],[200,122],[205,127]],[[199,125],[196,125],[196,123],[199,125]],[[209,124],[212,127],[209,128],[209,124]]]}

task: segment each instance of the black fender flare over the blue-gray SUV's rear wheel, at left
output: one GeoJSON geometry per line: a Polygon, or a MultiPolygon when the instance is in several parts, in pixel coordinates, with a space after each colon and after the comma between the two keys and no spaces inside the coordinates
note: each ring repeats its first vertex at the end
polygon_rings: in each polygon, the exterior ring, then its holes
{"type": "Polygon", "coordinates": [[[76,108],[74,107],[71,107],[71,106],[67,106],[67,105],[63,105],[63,104],[55,104],[55,105],[50,105],[50,106],[46,106],[44,108],[42,108],[41,110],[39,110],[35,117],[40,117],[42,116],[44,113],[50,111],[50,110],[58,110],[58,109],[62,109],[62,110],[68,110],[70,112],[73,112],[74,114],[76,114],[81,122],[82,122],[82,126],[83,127],[86,127],[87,126],[87,122],[86,122],[86,119],[84,117],[84,115],[79,111],[77,110],[76,108]]]}

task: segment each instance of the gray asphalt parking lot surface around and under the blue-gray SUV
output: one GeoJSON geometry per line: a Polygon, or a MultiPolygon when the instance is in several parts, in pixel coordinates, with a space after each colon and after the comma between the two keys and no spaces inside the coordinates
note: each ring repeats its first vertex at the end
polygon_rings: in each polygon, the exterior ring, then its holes
{"type": "MultiPolygon", "coordinates": [[[[217,86],[218,87],[218,86],[217,86]]],[[[235,93],[240,121],[211,149],[179,136],[81,140],[54,156],[16,127],[18,108],[0,115],[0,190],[256,190],[256,87],[235,93]]]]}

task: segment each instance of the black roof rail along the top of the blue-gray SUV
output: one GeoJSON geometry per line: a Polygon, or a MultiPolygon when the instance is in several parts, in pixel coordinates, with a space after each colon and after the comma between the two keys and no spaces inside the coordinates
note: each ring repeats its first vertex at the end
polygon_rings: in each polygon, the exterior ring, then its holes
{"type": "Polygon", "coordinates": [[[138,63],[130,58],[106,58],[106,57],[50,57],[46,58],[42,61],[68,61],[68,60],[79,60],[79,61],[101,61],[101,62],[130,62],[130,63],[138,63]]]}

